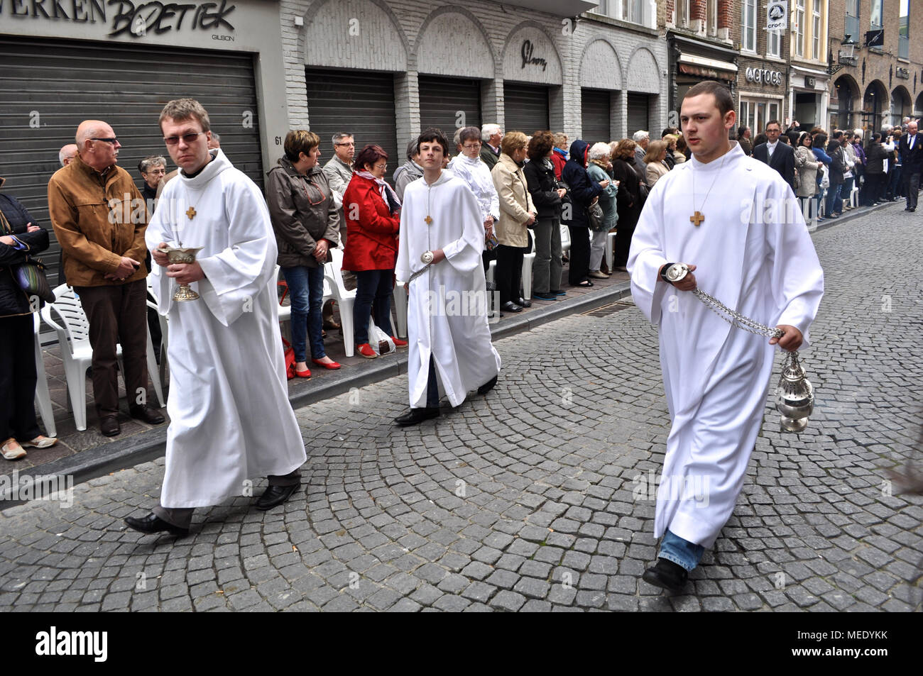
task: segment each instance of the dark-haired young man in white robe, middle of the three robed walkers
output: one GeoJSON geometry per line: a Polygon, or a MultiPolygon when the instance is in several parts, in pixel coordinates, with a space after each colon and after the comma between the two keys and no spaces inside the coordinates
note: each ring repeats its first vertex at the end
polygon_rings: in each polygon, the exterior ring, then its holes
{"type": "Polygon", "coordinates": [[[404,189],[394,270],[409,283],[411,409],[395,420],[399,425],[437,418],[440,393],[453,407],[469,390],[486,394],[500,371],[487,325],[484,216],[468,184],[442,169],[446,136],[427,129],[417,147],[423,178],[404,189]]]}

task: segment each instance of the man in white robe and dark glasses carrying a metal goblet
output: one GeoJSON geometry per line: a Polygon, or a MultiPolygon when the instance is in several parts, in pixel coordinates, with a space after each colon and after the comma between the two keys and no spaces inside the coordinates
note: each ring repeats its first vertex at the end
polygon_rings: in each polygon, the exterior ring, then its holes
{"type": "Polygon", "coordinates": [[[270,484],[258,509],[285,502],[306,454],[284,376],[266,201],[221,149],[209,149],[198,101],[170,101],[160,125],[180,168],[147,231],[158,309],[170,319],[170,428],[160,504],[125,521],[142,533],[186,535],[196,507],[251,495],[254,478],[270,484]],[[168,244],[203,248],[194,263],[171,264],[168,244]],[[175,302],[177,284],[198,300],[175,302]]]}

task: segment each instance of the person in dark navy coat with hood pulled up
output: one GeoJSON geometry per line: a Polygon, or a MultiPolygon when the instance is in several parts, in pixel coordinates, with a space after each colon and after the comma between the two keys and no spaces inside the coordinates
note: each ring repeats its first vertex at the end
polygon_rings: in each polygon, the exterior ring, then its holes
{"type": "Polygon", "coordinates": [[[570,208],[561,210],[561,222],[570,231],[570,264],[568,283],[576,287],[592,287],[590,281],[590,215],[593,200],[603,192],[605,185],[593,183],[586,172],[587,151],[590,144],[577,139],[570,144],[570,159],[561,171],[561,181],[568,185],[570,208]],[[568,211],[570,213],[568,213],[568,211]]]}

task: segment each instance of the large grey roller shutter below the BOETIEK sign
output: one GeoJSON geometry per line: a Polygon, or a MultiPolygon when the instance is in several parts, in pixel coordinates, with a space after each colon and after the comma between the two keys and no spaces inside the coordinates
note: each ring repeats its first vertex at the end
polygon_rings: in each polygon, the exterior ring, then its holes
{"type": "MultiPolygon", "coordinates": [[[[122,144],[118,164],[140,188],[138,160],[163,155],[175,169],[157,124],[171,99],[194,97],[209,111],[211,128],[234,166],[260,187],[257,94],[253,57],[107,42],[0,36],[0,175],[49,231],[48,180],[61,168],[58,149],[74,142],[83,120],[112,125],[122,144]]],[[[48,279],[58,284],[60,247],[42,253],[48,279]]]]}

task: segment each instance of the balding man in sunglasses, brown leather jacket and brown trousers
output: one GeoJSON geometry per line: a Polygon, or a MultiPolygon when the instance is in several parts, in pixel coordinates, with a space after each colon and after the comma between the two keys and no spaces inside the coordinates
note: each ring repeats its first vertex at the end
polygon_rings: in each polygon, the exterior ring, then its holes
{"type": "Polygon", "coordinates": [[[87,120],[77,129],[78,155],[48,183],[48,210],[61,244],[67,283],[90,321],[93,399],[105,436],[121,433],[115,350],[122,346],[128,411],[152,425],[163,416],[148,406],[148,211],[131,175],[116,166],[110,125],[87,120]]]}

